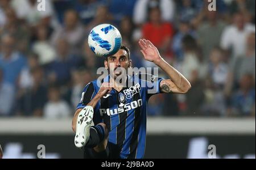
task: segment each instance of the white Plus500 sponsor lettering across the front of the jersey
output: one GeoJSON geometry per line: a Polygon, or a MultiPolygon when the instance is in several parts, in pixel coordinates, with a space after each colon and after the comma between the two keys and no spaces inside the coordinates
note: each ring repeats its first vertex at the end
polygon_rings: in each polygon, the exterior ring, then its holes
{"type": "Polygon", "coordinates": [[[126,103],[123,107],[117,108],[117,109],[100,109],[100,114],[103,116],[103,114],[108,114],[108,116],[123,113],[130,111],[131,109],[135,109],[142,106],[142,99],[139,99],[137,101],[132,101],[131,103],[126,103]]]}

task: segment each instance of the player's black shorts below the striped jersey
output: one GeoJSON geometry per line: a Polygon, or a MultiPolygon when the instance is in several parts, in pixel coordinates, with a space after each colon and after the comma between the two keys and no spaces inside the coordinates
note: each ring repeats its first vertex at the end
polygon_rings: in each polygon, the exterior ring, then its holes
{"type": "Polygon", "coordinates": [[[96,152],[93,148],[84,148],[84,159],[119,159],[120,147],[108,142],[106,150],[96,152]]]}

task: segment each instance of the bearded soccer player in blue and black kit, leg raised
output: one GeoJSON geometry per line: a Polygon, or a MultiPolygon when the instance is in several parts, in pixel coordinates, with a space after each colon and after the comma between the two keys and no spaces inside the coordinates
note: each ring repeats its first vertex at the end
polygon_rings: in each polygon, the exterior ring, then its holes
{"type": "Polygon", "coordinates": [[[105,68],[110,71],[110,65],[114,65],[113,76],[110,74],[85,86],[72,120],[75,145],[84,147],[84,158],[143,158],[150,96],[185,94],[191,88],[188,80],[164,61],[150,41],[143,39],[138,43],[144,59],[154,62],[170,79],[152,75],[150,80],[144,80],[139,75],[125,74],[122,68],[127,73],[131,67],[130,51],[125,46],[106,57],[105,68]],[[126,86],[120,86],[118,76],[125,77],[126,86]]]}

